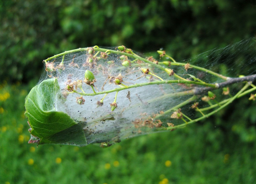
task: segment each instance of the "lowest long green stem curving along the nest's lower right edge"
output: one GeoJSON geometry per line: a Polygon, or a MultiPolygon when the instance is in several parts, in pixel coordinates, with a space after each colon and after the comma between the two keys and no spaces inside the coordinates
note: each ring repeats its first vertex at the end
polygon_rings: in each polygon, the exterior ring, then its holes
{"type": "MultiPolygon", "coordinates": [[[[233,102],[243,91],[245,91],[245,89],[248,88],[249,86],[250,86],[250,83],[246,83],[245,86],[244,86],[233,98],[231,98],[229,101],[227,101],[224,105],[222,105],[222,106],[219,107],[218,109],[216,109],[216,110],[214,110],[214,111],[212,111],[212,112],[206,114],[205,116],[202,116],[202,117],[199,117],[199,118],[197,118],[197,119],[194,119],[194,120],[192,120],[192,121],[187,122],[187,124],[195,123],[195,122],[197,122],[197,121],[203,120],[203,119],[208,118],[209,116],[211,116],[211,115],[217,113],[218,111],[220,111],[221,109],[223,109],[224,107],[226,107],[227,105],[229,105],[230,103],[232,103],[232,102],[233,102]]],[[[176,125],[176,126],[169,126],[169,127],[165,128],[165,129],[171,130],[171,129],[181,128],[181,127],[184,126],[184,125],[186,125],[186,124],[183,123],[183,124],[176,125]]]]}

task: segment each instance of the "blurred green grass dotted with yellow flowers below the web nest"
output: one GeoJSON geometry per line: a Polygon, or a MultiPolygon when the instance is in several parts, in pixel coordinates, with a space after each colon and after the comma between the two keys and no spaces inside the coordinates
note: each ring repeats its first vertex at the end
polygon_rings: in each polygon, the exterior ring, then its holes
{"type": "Polygon", "coordinates": [[[31,87],[0,86],[0,183],[256,182],[255,141],[243,141],[218,121],[135,137],[105,149],[27,144],[23,114],[31,87]]]}

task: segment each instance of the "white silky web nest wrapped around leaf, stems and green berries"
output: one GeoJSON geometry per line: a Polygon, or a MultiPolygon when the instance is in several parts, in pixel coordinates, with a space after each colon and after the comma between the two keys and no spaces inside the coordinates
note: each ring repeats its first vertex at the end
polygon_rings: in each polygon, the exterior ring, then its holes
{"type": "Polygon", "coordinates": [[[255,45],[243,40],[179,62],[125,46],[57,54],[26,97],[29,143],[104,147],[209,117],[242,93],[231,84],[255,80],[255,45]]]}

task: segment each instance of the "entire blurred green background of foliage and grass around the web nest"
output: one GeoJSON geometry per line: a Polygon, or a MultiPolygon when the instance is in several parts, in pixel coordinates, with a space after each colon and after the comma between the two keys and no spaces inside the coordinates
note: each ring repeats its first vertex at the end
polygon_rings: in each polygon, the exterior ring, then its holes
{"type": "Polygon", "coordinates": [[[43,59],[122,44],[187,58],[254,36],[255,1],[12,0],[0,1],[0,13],[0,183],[256,182],[256,105],[248,97],[187,128],[106,149],[29,145],[24,117],[43,59]]]}

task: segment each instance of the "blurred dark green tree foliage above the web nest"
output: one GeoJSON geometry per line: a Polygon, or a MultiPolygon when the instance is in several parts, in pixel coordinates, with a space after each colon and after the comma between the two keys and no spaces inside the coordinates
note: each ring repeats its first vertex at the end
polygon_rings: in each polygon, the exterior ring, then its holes
{"type": "Polygon", "coordinates": [[[255,10],[241,0],[1,1],[0,78],[27,82],[43,59],[96,44],[188,57],[255,34],[255,10]]]}

